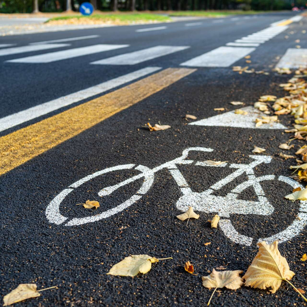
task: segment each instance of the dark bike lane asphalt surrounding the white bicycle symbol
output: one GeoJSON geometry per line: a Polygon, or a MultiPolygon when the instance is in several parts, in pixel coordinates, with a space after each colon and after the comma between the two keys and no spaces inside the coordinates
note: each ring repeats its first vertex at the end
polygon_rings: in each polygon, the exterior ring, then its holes
{"type": "MultiPolygon", "coordinates": [[[[16,306],[37,306],[38,300],[42,306],[204,304],[211,290],[201,285],[200,276],[208,275],[219,266],[227,267],[227,270],[246,270],[258,250],[255,244],[259,238],[284,231],[298,221],[300,203],[284,199],[292,187],[278,180],[279,176],[290,175],[288,167],[293,164],[291,159],[278,156],[281,151],[278,145],[288,140],[288,136],[281,133],[283,130],[189,125],[193,120],[185,119],[186,114],[197,116],[197,120],[210,118],[218,114],[213,110],[216,107],[226,107],[229,111],[240,108],[230,105],[230,101],[242,101],[249,106],[260,95],[280,95],[272,84],[283,83],[288,77],[272,74],[267,82],[266,76],[239,75],[229,69],[220,69],[223,78],[217,80],[213,78],[217,70],[204,71],[192,72],[0,177],[2,204],[6,208],[1,213],[4,251],[1,258],[5,268],[3,273],[8,277],[2,283],[3,294],[19,283],[36,282],[40,287],[59,287],[59,290],[45,292],[38,299],[16,306]],[[246,88],[250,90],[246,91],[246,88]],[[159,121],[171,128],[150,132],[142,127],[146,122],[159,121]],[[254,146],[266,148],[266,154],[251,153],[254,146]],[[233,242],[221,227],[212,230],[208,220],[216,211],[196,211],[200,218],[190,220],[188,227],[176,219],[182,212],[177,208],[183,195],[181,188],[187,187],[185,182],[180,182],[178,174],[177,177],[174,175],[177,172],[174,166],[154,173],[148,191],[130,207],[110,217],[73,226],[65,226],[66,222],[56,224],[46,217],[46,208],[54,197],[90,174],[117,165],[143,165],[154,169],[181,157],[187,148],[210,148],[212,151],[191,150],[186,161],[228,161],[223,167],[176,164],[194,195],[208,191],[230,176],[236,170],[229,167],[231,164],[248,165],[255,160],[250,155],[272,157],[266,160],[268,163],[255,165],[253,171],[256,177],[274,176],[274,179],[261,183],[273,212],[252,214],[251,211],[255,209],[257,212],[257,208],[251,208],[249,214],[235,213],[222,218],[228,218],[239,234],[252,237],[250,245],[233,242]],[[204,245],[208,242],[211,244],[204,245]],[[153,265],[148,274],[136,278],[106,275],[113,264],[130,254],[173,257],[173,260],[153,265]],[[195,265],[198,276],[184,271],[186,261],[195,265]]],[[[281,124],[289,125],[290,116],[280,119],[281,124]]],[[[102,193],[100,197],[98,193],[139,173],[140,170],[126,168],[86,181],[63,200],[61,214],[70,221],[76,217],[95,216],[124,203],[144,184],[143,177],[110,195],[102,193]],[[98,200],[101,206],[96,211],[76,206],[87,199],[98,200]]],[[[216,188],[212,195],[225,200],[248,179],[247,174],[242,173],[216,188]]],[[[260,194],[257,196],[251,186],[239,192],[238,198],[242,201],[259,200],[260,194]]],[[[202,199],[207,205],[208,194],[202,199]]],[[[231,204],[225,201],[218,205],[226,210],[231,204]]],[[[296,273],[293,282],[301,289],[306,286],[305,267],[299,263],[306,251],[305,229],[279,246],[290,269],[296,273]]],[[[222,290],[222,295],[214,297],[211,304],[289,306],[301,303],[297,293],[287,288],[282,284],[274,294],[246,287],[237,291],[222,290]]]]}

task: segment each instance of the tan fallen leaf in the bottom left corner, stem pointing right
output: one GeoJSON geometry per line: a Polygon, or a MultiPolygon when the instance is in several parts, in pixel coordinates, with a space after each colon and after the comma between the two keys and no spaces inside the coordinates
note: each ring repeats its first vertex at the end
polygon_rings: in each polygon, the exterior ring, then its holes
{"type": "Polygon", "coordinates": [[[38,293],[40,291],[45,291],[48,289],[56,288],[57,286],[36,290],[37,286],[36,284],[20,284],[17,288],[12,290],[10,293],[6,294],[3,297],[3,306],[12,305],[14,303],[21,302],[23,300],[26,300],[28,298],[38,297],[41,296],[41,293],[38,293]]]}

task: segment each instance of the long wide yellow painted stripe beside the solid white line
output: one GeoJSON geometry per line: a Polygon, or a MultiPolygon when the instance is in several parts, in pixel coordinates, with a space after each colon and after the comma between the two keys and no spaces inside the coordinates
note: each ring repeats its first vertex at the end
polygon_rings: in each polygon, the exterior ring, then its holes
{"type": "Polygon", "coordinates": [[[161,91],[196,69],[168,68],[0,138],[0,175],[161,91]]]}

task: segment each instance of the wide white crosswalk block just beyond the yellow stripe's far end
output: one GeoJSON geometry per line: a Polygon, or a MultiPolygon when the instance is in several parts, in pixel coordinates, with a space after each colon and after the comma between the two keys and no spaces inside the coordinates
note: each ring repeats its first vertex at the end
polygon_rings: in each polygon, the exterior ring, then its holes
{"type": "Polygon", "coordinates": [[[181,63],[181,66],[228,67],[256,48],[223,46],[181,63]]]}

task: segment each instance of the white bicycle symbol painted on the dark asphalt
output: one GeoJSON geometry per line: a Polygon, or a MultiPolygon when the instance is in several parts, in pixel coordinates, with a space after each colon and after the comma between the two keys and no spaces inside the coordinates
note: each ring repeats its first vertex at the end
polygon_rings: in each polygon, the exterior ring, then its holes
{"type": "MultiPolygon", "coordinates": [[[[143,177],[143,183],[141,188],[138,190],[136,194],[131,196],[128,200],[126,200],[122,204],[119,204],[115,208],[109,209],[105,212],[99,213],[94,216],[73,218],[72,220],[65,223],[64,226],[82,225],[85,223],[95,222],[101,219],[105,219],[118,212],[121,212],[122,210],[134,204],[137,200],[139,200],[142,197],[143,194],[145,194],[151,188],[154,181],[154,174],[160,171],[161,169],[168,169],[182,192],[182,196],[179,198],[179,200],[176,203],[176,207],[179,210],[186,211],[189,206],[192,206],[193,209],[196,211],[202,211],[210,214],[218,213],[218,215],[222,217],[222,219],[219,222],[220,228],[227,236],[227,238],[229,238],[231,241],[235,243],[240,243],[247,246],[251,245],[253,239],[255,238],[248,237],[236,231],[234,226],[231,224],[229,217],[230,214],[244,214],[244,215],[256,214],[256,215],[269,216],[274,212],[274,207],[267,200],[265,193],[260,185],[260,182],[265,180],[274,180],[275,175],[256,177],[253,170],[255,166],[261,163],[270,163],[272,157],[250,155],[249,157],[254,159],[254,161],[252,161],[249,164],[230,164],[229,168],[236,169],[233,173],[221,179],[220,181],[216,182],[214,185],[212,185],[204,192],[198,193],[198,192],[193,192],[191,188],[189,188],[185,178],[183,177],[180,170],[177,168],[177,165],[194,163],[194,165],[196,166],[198,165],[204,167],[225,167],[227,163],[220,165],[209,165],[204,162],[199,162],[199,161],[195,162],[193,160],[187,160],[186,158],[188,157],[188,153],[192,150],[202,151],[202,152],[213,151],[213,149],[211,148],[191,147],[185,149],[182,152],[181,157],[166,162],[153,169],[150,169],[143,165],[138,165],[137,167],[135,167],[135,164],[124,164],[103,169],[101,171],[98,171],[94,174],[88,175],[76,181],[75,183],[70,185],[67,189],[64,189],[62,192],[60,192],[47,206],[46,217],[50,223],[55,223],[58,225],[64,223],[68,218],[61,215],[60,213],[61,202],[70,192],[73,191],[74,188],[79,187],[80,185],[84,184],[85,182],[97,176],[123,169],[134,168],[140,171],[141,172],[140,174],[131,177],[125,181],[122,181],[119,184],[103,188],[98,192],[99,196],[110,195],[118,188],[143,177]],[[244,173],[247,175],[248,180],[236,186],[226,196],[212,195],[213,192],[219,190],[220,188],[227,185],[232,180],[234,180],[235,178],[239,177],[244,173]],[[248,187],[254,188],[255,193],[258,196],[258,201],[238,199],[239,194],[248,187]]],[[[299,184],[298,182],[294,181],[289,177],[279,176],[278,180],[285,182],[286,184],[290,185],[292,188],[297,188],[298,186],[304,188],[301,184],[299,184]]],[[[265,240],[267,243],[274,242],[277,239],[280,240],[280,242],[288,241],[294,236],[299,235],[300,231],[303,230],[306,225],[307,225],[307,201],[306,202],[301,201],[299,213],[297,215],[297,220],[294,220],[293,223],[285,230],[267,238],[259,238],[258,241],[265,240]]]]}

